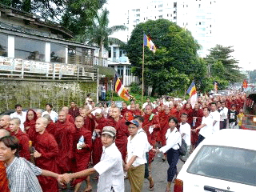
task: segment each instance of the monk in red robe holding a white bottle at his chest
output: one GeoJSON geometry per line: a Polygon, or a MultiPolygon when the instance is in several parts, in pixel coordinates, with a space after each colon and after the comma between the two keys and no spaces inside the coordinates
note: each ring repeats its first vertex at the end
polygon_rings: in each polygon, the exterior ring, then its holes
{"type": "MultiPolygon", "coordinates": [[[[92,146],[91,132],[83,128],[84,120],[82,116],[75,118],[74,124],[76,126],[76,132],[74,134],[74,160],[75,170],[78,172],[88,169],[90,162],[90,149],[92,146]],[[83,142],[80,141],[83,138],[83,142]]],[[[90,185],[90,176],[86,178],[77,178],[74,181],[74,192],[77,192],[82,185],[82,181],[86,180],[87,186],[85,191],[90,191],[92,186],[90,185]]]]}

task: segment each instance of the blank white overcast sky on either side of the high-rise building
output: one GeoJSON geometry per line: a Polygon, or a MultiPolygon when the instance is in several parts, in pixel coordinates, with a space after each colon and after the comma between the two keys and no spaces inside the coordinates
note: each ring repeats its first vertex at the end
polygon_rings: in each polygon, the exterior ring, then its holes
{"type": "MultiPolygon", "coordinates": [[[[203,0],[202,0],[203,1],[203,0]]],[[[126,22],[124,13],[127,8],[142,4],[142,0],[108,0],[110,26],[126,22]]],[[[244,70],[256,70],[256,1],[254,0],[216,0],[216,44],[234,46],[234,58],[244,70]]],[[[121,35],[121,34],[120,34],[121,35]]],[[[118,35],[119,36],[119,35],[118,35]]],[[[125,36],[122,34],[122,36],[125,36]]],[[[119,36],[121,38],[122,36],[119,36]]],[[[122,38],[121,40],[125,40],[122,38]]]]}

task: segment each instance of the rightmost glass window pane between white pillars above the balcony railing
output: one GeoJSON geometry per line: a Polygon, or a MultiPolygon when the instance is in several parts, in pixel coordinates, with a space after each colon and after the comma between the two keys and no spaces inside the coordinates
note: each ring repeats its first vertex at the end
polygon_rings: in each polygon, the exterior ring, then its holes
{"type": "Polygon", "coordinates": [[[66,47],[54,42],[50,43],[50,62],[66,62],[66,47]]]}

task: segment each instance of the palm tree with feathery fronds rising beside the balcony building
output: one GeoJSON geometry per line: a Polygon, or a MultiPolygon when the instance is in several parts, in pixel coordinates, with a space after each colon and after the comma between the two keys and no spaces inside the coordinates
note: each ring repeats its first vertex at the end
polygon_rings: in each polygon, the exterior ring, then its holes
{"type": "Polygon", "coordinates": [[[124,42],[118,38],[110,38],[111,34],[118,30],[126,30],[126,26],[111,26],[109,27],[109,11],[102,10],[101,14],[98,14],[94,23],[90,26],[85,34],[78,36],[79,42],[86,42],[90,45],[97,45],[99,47],[99,65],[102,66],[102,50],[108,49],[110,44],[117,44],[119,46],[124,45],[124,42]]]}

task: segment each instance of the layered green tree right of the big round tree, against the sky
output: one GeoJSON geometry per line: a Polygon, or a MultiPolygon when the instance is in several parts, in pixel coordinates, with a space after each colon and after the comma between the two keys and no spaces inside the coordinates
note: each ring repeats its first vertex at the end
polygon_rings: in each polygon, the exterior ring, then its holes
{"type": "Polygon", "coordinates": [[[210,49],[210,54],[205,58],[209,77],[221,78],[230,83],[244,79],[237,65],[238,61],[231,56],[233,52],[233,46],[216,45],[210,49]]]}

